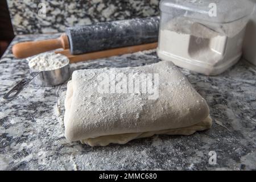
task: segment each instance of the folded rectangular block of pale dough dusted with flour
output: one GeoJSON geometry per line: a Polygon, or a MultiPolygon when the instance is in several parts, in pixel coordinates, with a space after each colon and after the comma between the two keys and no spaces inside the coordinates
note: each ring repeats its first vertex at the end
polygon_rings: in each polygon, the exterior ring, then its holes
{"type": "Polygon", "coordinates": [[[125,144],[155,134],[191,135],[209,129],[207,102],[171,61],[134,68],[73,72],[65,98],[65,137],[90,146],[125,144]],[[98,93],[100,73],[158,73],[159,97],[147,94],[98,93]]]}

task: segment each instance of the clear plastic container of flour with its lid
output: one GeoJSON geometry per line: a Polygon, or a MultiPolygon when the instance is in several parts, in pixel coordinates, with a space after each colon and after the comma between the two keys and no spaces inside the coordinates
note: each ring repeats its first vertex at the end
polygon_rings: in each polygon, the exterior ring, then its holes
{"type": "Polygon", "coordinates": [[[224,72],[242,55],[253,7],[247,0],[162,0],[158,56],[205,75],[224,72]]]}

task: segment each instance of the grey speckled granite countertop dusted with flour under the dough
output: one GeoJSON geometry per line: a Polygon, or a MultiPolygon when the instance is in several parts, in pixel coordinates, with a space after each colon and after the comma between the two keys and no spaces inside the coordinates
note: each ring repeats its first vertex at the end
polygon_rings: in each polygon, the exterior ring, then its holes
{"type": "MultiPolygon", "coordinates": [[[[60,34],[16,36],[26,40],[60,34]]],[[[127,67],[160,61],[145,51],[73,64],[72,69],[127,67]]],[[[0,61],[0,97],[29,75],[27,60],[14,59],[11,46],[0,61]]],[[[191,136],[160,135],[124,145],[89,147],[68,143],[56,104],[65,84],[52,88],[28,85],[13,101],[0,100],[0,169],[256,169],[256,68],[241,60],[220,76],[181,69],[210,107],[212,129],[191,136]],[[217,164],[209,164],[215,151],[217,164]]]]}

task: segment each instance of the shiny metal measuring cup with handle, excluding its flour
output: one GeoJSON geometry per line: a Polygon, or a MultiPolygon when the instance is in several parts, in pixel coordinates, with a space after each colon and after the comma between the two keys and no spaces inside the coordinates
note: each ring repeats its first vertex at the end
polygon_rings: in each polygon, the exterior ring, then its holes
{"type": "Polygon", "coordinates": [[[55,86],[63,84],[70,77],[69,61],[61,68],[50,71],[37,71],[30,68],[30,78],[24,78],[14,86],[5,96],[4,100],[13,100],[25,88],[25,86],[32,81],[40,86],[55,86]]]}

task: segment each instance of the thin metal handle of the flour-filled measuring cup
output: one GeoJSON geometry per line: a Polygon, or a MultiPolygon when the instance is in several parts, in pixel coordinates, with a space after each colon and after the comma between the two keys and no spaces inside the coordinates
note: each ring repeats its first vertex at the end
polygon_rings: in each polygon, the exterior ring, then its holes
{"type": "Polygon", "coordinates": [[[13,100],[18,94],[23,90],[23,88],[31,81],[31,79],[24,78],[18,84],[14,86],[5,96],[3,96],[4,100],[13,100]]]}

